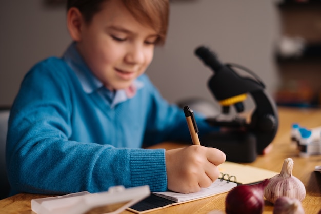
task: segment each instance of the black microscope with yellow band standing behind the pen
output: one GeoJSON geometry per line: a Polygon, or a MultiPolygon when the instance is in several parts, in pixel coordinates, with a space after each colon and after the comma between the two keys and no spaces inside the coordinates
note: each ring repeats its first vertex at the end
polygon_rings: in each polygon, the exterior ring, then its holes
{"type": "Polygon", "coordinates": [[[215,147],[226,154],[227,161],[253,162],[274,139],[278,128],[276,105],[265,91],[259,77],[243,66],[222,64],[214,52],[205,46],[195,50],[214,74],[208,87],[222,107],[221,113],[207,122],[219,126],[221,131],[213,132],[201,139],[202,145],[215,147]],[[251,77],[240,76],[234,68],[246,71],[251,77]],[[251,97],[254,110],[248,118],[239,116],[244,112],[244,101],[251,97]],[[236,115],[231,116],[231,107],[236,115]]]}

